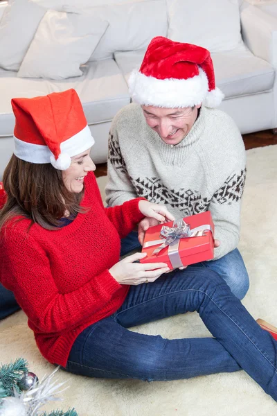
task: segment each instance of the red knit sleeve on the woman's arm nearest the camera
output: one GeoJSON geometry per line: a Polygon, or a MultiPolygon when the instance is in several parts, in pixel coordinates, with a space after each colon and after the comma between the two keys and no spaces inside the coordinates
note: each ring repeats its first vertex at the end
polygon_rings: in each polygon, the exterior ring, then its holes
{"type": "Polygon", "coordinates": [[[104,270],[71,293],[60,293],[51,274],[51,259],[30,235],[6,231],[0,253],[0,281],[13,291],[39,331],[59,333],[89,319],[105,307],[120,284],[104,270]]]}

